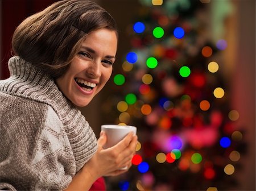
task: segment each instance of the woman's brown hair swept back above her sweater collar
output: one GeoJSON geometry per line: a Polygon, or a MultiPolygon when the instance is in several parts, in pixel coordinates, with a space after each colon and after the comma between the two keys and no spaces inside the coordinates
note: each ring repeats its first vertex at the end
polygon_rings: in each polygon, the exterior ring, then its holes
{"type": "Polygon", "coordinates": [[[62,76],[89,32],[108,28],[116,31],[112,16],[94,2],[64,0],[29,16],[14,31],[16,55],[53,78],[62,76]]]}

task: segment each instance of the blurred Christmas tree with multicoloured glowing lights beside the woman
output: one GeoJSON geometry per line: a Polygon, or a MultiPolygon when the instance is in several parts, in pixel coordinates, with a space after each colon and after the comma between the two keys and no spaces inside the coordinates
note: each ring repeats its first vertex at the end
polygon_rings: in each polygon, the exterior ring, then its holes
{"type": "Polygon", "coordinates": [[[245,154],[239,117],[209,35],[209,1],[140,1],[131,50],[102,107],[106,123],[138,128],[133,167],[109,190],[227,190],[245,154]]]}

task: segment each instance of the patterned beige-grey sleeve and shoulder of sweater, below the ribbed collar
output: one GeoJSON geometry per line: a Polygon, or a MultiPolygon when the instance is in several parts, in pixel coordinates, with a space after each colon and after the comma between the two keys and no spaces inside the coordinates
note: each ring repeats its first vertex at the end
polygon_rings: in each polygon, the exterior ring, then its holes
{"type": "Polygon", "coordinates": [[[76,164],[57,114],[43,103],[16,104],[15,113],[0,112],[0,189],[64,190],[76,164]]]}

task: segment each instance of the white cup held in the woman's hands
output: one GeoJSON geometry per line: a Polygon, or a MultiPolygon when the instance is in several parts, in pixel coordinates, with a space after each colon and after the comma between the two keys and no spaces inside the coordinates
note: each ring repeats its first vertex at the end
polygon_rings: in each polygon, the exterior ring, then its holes
{"type": "Polygon", "coordinates": [[[102,124],[101,130],[104,131],[107,136],[107,142],[104,145],[104,148],[113,147],[131,131],[134,132],[134,135],[137,133],[137,128],[134,126],[123,126],[118,124],[102,124]]]}

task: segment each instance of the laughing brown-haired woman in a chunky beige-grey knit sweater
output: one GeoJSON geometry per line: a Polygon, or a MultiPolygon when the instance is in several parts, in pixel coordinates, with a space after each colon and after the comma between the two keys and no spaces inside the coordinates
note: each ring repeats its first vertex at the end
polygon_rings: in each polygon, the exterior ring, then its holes
{"type": "Polygon", "coordinates": [[[0,189],[89,190],[131,167],[137,136],[103,150],[104,132],[97,141],[77,109],[109,80],[117,39],[112,16],[84,0],[53,3],[16,28],[11,76],[0,81],[0,189]]]}

